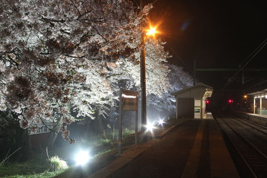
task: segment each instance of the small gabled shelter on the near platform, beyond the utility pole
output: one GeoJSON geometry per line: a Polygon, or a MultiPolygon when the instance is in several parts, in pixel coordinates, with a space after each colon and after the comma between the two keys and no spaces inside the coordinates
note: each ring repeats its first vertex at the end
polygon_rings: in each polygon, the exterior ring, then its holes
{"type": "Polygon", "coordinates": [[[213,87],[198,83],[170,93],[176,97],[176,118],[203,118],[206,98],[211,97],[213,87]]]}

